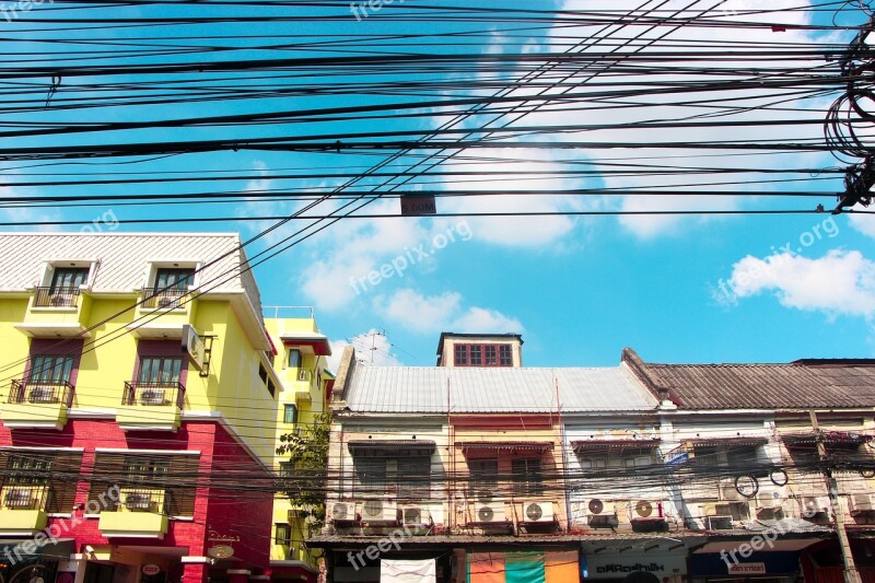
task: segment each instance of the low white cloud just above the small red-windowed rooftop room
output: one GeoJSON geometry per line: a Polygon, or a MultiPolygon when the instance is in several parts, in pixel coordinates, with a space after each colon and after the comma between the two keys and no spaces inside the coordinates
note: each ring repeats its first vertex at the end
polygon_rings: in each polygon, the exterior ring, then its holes
{"type": "Polygon", "coordinates": [[[462,294],[423,295],[409,288],[374,299],[374,310],[418,333],[522,333],[518,319],[495,310],[463,305],[462,294]]]}

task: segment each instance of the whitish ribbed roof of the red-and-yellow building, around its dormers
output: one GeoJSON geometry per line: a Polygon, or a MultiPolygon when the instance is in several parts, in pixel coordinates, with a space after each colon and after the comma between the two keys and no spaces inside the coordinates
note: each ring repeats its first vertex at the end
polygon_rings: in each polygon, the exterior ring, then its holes
{"type": "Polygon", "coordinates": [[[38,285],[47,260],[100,261],[92,291],[131,293],[145,285],[149,261],[195,261],[205,267],[201,282],[222,282],[214,292],[245,291],[257,314],[261,300],[236,233],[214,234],[79,234],[0,233],[0,291],[25,291],[38,285]],[[220,258],[221,257],[221,258],[220,258]],[[228,281],[224,281],[224,280],[228,281]]]}

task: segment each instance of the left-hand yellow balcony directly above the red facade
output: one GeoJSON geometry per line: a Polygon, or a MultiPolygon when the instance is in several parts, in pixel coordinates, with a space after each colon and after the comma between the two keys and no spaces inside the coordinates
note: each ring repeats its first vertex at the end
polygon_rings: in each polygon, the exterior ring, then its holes
{"type": "Polygon", "coordinates": [[[74,388],[63,381],[12,381],[0,413],[9,428],[63,429],[73,405],[74,388]]]}

